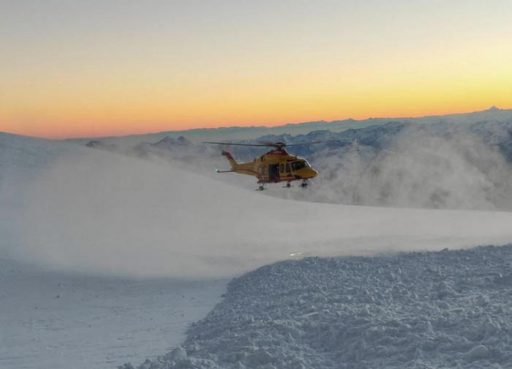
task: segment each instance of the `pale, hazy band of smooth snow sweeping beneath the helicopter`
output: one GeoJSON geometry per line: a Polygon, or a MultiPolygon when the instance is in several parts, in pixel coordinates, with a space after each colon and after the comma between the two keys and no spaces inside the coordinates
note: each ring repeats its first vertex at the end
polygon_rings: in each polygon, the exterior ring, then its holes
{"type": "Polygon", "coordinates": [[[106,274],[225,277],[291,257],[512,240],[512,213],[277,199],[94,149],[59,158],[23,196],[16,257],[106,274]]]}

